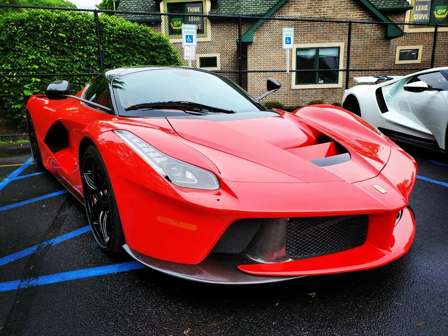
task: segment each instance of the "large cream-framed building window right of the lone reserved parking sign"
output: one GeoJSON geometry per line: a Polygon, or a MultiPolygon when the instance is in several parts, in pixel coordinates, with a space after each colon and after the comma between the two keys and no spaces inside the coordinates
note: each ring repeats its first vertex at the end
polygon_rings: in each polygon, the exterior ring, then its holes
{"type": "Polygon", "coordinates": [[[339,83],[340,47],[296,49],[296,85],[339,83]],[[317,70],[315,70],[317,69],[317,70]]]}

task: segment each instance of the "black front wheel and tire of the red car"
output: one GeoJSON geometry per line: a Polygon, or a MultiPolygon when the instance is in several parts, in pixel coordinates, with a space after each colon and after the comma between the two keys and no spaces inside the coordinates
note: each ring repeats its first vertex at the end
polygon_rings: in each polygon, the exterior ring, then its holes
{"type": "Polygon", "coordinates": [[[121,254],[125,235],[106,166],[94,145],[82,156],[81,177],[87,218],[99,248],[109,255],[121,254]]]}

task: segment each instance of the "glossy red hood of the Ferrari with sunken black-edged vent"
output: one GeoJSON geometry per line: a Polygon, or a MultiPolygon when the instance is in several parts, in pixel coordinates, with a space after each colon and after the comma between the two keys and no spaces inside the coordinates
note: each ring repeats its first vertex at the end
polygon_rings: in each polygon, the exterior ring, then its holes
{"type": "MultiPolygon", "coordinates": [[[[214,155],[215,151],[204,147],[274,169],[304,182],[354,183],[370,179],[379,174],[390,155],[390,145],[385,140],[381,141],[383,139],[379,134],[365,129],[364,126],[363,135],[336,127],[327,131],[324,126],[313,125],[312,122],[288,113],[282,116],[232,121],[186,118],[170,118],[168,121],[179,136],[217,166],[222,161],[222,155],[214,155]],[[344,163],[319,167],[301,157],[303,155],[297,154],[303,147],[318,145],[319,138],[322,137],[330,137],[343,145],[351,159],[344,163]]],[[[312,147],[313,150],[315,148],[312,147]]]]}

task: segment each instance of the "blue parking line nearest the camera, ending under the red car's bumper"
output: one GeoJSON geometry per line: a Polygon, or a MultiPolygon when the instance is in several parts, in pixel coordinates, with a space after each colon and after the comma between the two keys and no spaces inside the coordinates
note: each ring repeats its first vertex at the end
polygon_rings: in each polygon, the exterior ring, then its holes
{"type": "Polygon", "coordinates": [[[6,292],[14,289],[22,289],[30,286],[40,286],[43,284],[54,284],[56,282],[88,278],[91,276],[103,276],[106,274],[131,271],[144,267],[146,266],[139,263],[138,261],[129,261],[127,263],[84,268],[81,270],[56,273],[48,276],[38,276],[36,278],[28,278],[24,280],[7,281],[0,283],[0,292],[6,292]]]}

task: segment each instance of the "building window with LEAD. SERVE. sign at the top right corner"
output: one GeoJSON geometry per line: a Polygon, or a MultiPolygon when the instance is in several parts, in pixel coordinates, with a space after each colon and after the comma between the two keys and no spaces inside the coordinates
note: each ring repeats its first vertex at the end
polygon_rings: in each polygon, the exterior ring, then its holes
{"type": "Polygon", "coordinates": [[[411,9],[410,22],[448,22],[448,0],[411,0],[411,5],[414,8],[411,9]]]}

